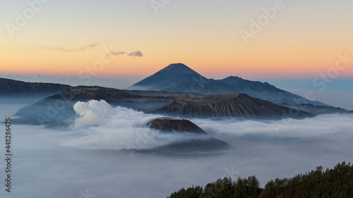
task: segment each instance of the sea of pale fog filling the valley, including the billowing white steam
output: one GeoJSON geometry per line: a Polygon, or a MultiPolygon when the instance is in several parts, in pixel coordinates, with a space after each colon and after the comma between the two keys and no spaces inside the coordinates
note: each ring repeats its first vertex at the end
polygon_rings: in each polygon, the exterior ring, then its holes
{"type": "MultiPolygon", "coordinates": [[[[25,105],[1,102],[0,118],[11,117],[25,105]]],[[[353,162],[353,115],[280,121],[191,119],[234,149],[168,156],[123,150],[126,144],[139,150],[169,144],[167,136],[144,126],[160,116],[112,108],[104,101],[78,103],[75,110],[81,118],[68,131],[12,123],[12,192],[5,192],[1,160],[0,197],[167,197],[181,187],[225,176],[256,175],[264,186],[271,178],[353,162]]]]}

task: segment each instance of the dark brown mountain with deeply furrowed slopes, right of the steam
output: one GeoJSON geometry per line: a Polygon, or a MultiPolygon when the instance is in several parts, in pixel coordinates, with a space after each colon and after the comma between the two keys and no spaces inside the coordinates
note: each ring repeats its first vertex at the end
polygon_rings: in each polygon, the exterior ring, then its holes
{"type": "Polygon", "coordinates": [[[312,113],[289,109],[246,94],[208,95],[193,100],[174,100],[152,113],[189,118],[312,118],[312,113]]]}

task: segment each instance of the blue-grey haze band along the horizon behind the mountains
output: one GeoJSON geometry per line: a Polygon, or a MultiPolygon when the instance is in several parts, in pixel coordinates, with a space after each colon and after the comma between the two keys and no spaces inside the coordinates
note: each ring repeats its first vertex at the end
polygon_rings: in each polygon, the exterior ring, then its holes
{"type": "MultiPolygon", "coordinates": [[[[162,69],[162,68],[160,68],[162,69]]],[[[157,72],[151,71],[150,75],[157,72]]],[[[196,70],[196,72],[198,72],[196,70]]],[[[202,75],[202,74],[201,74],[202,75]]],[[[232,75],[232,74],[229,74],[232,75]]],[[[228,76],[229,76],[228,75],[228,76]]],[[[207,76],[206,78],[223,79],[228,76],[207,76]]],[[[233,75],[237,76],[237,75],[233,75]]],[[[50,76],[40,75],[35,73],[34,75],[6,75],[0,74],[0,78],[8,78],[13,80],[21,80],[25,82],[48,82],[48,83],[59,83],[64,85],[88,85],[88,86],[102,86],[110,87],[115,89],[126,89],[131,85],[147,78],[148,76],[140,76],[134,78],[100,78],[100,76],[92,77],[89,83],[86,80],[80,79],[75,76],[50,76]]],[[[306,78],[283,78],[283,77],[261,77],[261,76],[238,76],[246,80],[268,82],[277,88],[284,89],[293,94],[298,94],[301,97],[306,97],[308,90],[313,91],[317,101],[321,101],[325,104],[329,104],[342,109],[353,110],[353,79],[349,78],[335,78],[332,82],[326,84],[326,88],[321,91],[319,88],[313,85],[313,77],[306,78]],[[338,97],[340,96],[340,97],[338,97]]]]}

